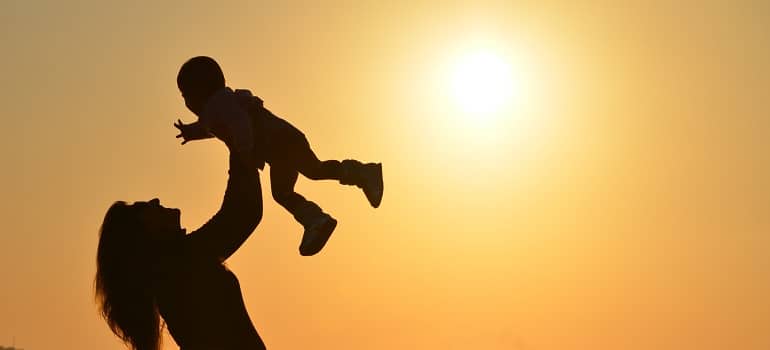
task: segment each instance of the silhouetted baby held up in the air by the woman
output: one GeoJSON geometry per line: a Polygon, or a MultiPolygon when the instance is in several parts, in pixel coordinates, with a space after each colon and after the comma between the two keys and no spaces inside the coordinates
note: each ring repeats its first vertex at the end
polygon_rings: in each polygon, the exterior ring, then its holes
{"type": "Polygon", "coordinates": [[[264,108],[262,100],[248,90],[231,90],[224,74],[210,57],[194,57],[185,62],[177,75],[177,86],[185,105],[198,121],[174,124],[182,144],[216,137],[251,167],[270,164],[273,198],[305,228],[299,252],[303,256],[319,252],[337,226],[337,220],[294,192],[298,173],[312,180],[338,180],[360,187],[369,203],[377,208],[382,201],[382,164],[362,164],[348,159],[320,161],[310,149],[305,135],[287,121],[264,108]]]}

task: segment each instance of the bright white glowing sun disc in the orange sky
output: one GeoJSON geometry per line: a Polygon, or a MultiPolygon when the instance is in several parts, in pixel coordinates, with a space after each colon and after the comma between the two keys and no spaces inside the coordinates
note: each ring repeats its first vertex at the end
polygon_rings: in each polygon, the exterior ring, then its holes
{"type": "Polygon", "coordinates": [[[452,70],[451,85],[459,107],[478,117],[499,112],[515,93],[510,64],[488,51],[459,57],[452,70]]]}

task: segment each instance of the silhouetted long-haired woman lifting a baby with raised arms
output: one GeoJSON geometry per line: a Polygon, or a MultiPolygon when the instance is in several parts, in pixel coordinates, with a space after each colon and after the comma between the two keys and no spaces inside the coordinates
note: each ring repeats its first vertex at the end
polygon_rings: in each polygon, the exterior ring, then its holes
{"type": "Polygon", "coordinates": [[[183,350],[265,349],[235,275],[222,263],[262,218],[259,174],[231,152],[222,207],[185,234],[179,209],[160,201],[116,202],[104,218],[96,297],[112,331],[130,348],[160,348],[163,317],[183,350]]]}

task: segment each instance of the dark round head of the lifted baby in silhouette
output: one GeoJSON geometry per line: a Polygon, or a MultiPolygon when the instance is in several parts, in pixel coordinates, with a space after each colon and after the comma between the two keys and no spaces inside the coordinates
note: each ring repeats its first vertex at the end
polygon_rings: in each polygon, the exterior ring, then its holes
{"type": "Polygon", "coordinates": [[[200,116],[208,98],[225,86],[225,76],[213,58],[198,56],[189,59],[179,68],[176,84],[187,108],[200,116]]]}

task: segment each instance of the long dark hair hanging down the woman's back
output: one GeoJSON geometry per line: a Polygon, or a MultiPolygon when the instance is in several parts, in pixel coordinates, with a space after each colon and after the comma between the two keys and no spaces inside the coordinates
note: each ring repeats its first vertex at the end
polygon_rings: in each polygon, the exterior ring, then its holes
{"type": "Polygon", "coordinates": [[[152,293],[152,242],[138,210],[116,202],[104,217],[96,253],[96,301],[115,335],[135,350],[158,350],[161,322],[152,293]]]}

